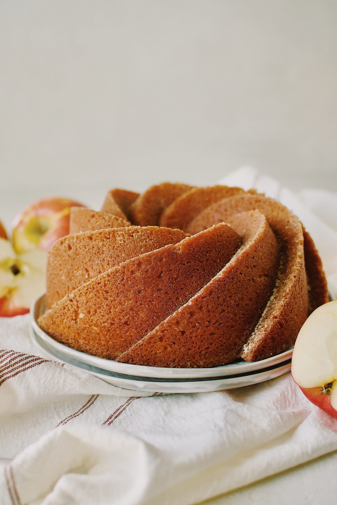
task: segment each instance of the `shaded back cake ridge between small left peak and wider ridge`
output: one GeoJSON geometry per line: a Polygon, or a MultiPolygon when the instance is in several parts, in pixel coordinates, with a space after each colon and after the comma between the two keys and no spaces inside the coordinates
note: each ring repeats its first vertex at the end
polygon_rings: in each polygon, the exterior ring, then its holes
{"type": "MultiPolygon", "coordinates": [[[[163,210],[172,201],[190,189],[191,186],[187,184],[171,182],[163,182],[162,184],[151,186],[131,205],[131,222],[140,226],[158,225],[163,210]]],[[[176,228],[176,226],[169,226],[169,228],[176,228]]]]}

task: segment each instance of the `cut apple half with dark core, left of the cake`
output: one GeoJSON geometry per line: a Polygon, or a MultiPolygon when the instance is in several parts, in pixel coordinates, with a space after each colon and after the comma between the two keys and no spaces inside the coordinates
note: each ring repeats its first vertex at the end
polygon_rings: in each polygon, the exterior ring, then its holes
{"type": "Polygon", "coordinates": [[[46,252],[17,255],[9,240],[0,238],[0,317],[27,314],[45,289],[46,252]]]}

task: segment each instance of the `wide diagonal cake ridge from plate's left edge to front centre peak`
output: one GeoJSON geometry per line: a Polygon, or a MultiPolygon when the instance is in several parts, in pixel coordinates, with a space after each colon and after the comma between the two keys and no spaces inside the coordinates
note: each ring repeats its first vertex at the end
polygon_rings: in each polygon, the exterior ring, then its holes
{"type": "Polygon", "coordinates": [[[75,289],[38,324],[75,349],[115,359],[207,284],[240,243],[220,224],[147,252],[75,289]]]}

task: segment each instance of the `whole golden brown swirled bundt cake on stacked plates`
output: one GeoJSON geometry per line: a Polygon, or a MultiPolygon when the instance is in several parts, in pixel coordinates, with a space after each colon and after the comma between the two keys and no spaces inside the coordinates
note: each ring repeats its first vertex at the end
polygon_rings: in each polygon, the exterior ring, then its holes
{"type": "Polygon", "coordinates": [[[82,233],[49,252],[38,324],[89,354],[158,367],[258,361],[293,345],[328,301],[310,235],[255,190],[115,189],[102,212],[72,213],[82,233]]]}

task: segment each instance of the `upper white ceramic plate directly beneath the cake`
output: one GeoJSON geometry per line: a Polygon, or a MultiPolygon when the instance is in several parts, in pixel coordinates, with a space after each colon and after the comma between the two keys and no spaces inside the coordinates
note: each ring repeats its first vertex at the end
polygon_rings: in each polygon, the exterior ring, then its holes
{"type": "Polygon", "coordinates": [[[104,372],[114,372],[117,374],[132,375],[137,377],[152,377],[155,379],[203,379],[206,377],[242,375],[250,372],[260,371],[287,362],[291,359],[293,354],[292,347],[277,356],[273,356],[272,358],[261,360],[255,363],[249,363],[247,361],[240,360],[236,363],[230,363],[229,365],[222,365],[212,368],[161,368],[130,365],[127,363],[117,363],[114,360],[98,358],[97,356],[86,354],[86,352],[72,349],[71,347],[62,344],[47,335],[47,333],[41,330],[37,324],[38,317],[45,311],[45,295],[42,295],[35,300],[34,305],[31,309],[31,325],[35,334],[39,337],[39,342],[43,341],[54,357],[56,354],[60,354],[60,356],[63,357],[62,360],[66,361],[67,363],[69,363],[67,360],[72,359],[76,360],[77,363],[82,363],[83,365],[94,367],[95,369],[101,369],[104,372]]]}

